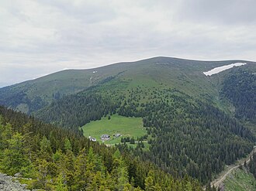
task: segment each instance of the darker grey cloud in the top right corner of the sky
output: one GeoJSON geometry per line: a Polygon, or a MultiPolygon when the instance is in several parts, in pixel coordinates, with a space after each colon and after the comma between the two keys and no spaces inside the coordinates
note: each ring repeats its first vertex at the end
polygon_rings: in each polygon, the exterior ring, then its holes
{"type": "Polygon", "coordinates": [[[226,25],[251,25],[256,22],[254,0],[187,0],[181,1],[177,18],[226,25]]]}

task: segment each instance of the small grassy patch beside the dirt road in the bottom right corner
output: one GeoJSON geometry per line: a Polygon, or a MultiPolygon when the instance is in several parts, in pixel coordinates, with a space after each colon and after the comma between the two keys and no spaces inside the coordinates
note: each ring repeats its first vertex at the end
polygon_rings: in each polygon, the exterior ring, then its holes
{"type": "Polygon", "coordinates": [[[245,169],[235,169],[224,181],[226,191],[256,191],[254,176],[245,169]]]}

